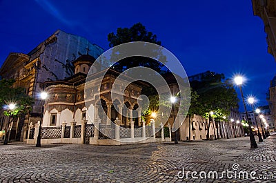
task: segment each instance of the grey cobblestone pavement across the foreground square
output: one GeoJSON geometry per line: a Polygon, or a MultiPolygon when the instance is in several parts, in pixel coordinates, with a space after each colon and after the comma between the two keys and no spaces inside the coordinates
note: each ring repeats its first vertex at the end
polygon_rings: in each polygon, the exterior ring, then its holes
{"type": "Polygon", "coordinates": [[[258,146],[250,149],[249,137],[178,145],[42,144],[36,148],[14,143],[0,145],[0,182],[276,182],[276,135],[258,146]],[[232,173],[222,174],[227,170],[232,173]],[[196,171],[198,178],[188,171],[196,171]],[[218,179],[212,177],[214,171],[218,179]],[[239,179],[241,172],[250,177],[253,171],[257,178],[273,175],[273,179],[239,179]]]}

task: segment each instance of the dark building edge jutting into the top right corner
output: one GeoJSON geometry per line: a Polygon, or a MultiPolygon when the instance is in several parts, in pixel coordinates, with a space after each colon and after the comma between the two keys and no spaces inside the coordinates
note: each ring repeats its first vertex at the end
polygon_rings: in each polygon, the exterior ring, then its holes
{"type": "Polygon", "coordinates": [[[264,21],[268,52],[276,61],[276,3],[273,0],[252,0],[254,15],[264,21]]]}

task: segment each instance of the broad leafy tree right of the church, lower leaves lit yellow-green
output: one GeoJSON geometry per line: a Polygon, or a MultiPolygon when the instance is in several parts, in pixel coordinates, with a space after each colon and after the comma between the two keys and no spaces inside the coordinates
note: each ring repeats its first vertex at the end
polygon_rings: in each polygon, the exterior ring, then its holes
{"type": "MultiPolygon", "coordinates": [[[[206,138],[209,139],[211,117],[220,122],[225,115],[230,115],[231,108],[238,108],[239,99],[230,79],[224,80],[224,74],[207,72],[201,81],[192,81],[190,85],[199,94],[198,101],[203,106],[203,116],[208,120],[206,138]],[[211,116],[210,111],[214,114],[211,116]]],[[[218,123],[217,123],[218,125],[218,123]]],[[[217,127],[218,128],[218,127],[217,127]]]]}

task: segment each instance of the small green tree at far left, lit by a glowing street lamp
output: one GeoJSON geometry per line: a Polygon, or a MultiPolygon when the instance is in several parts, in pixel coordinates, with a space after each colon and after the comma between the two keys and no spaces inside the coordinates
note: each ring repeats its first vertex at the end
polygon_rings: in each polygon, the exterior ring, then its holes
{"type": "Polygon", "coordinates": [[[28,97],[24,93],[24,88],[14,88],[14,79],[0,80],[0,105],[3,106],[3,114],[8,116],[8,122],[5,128],[4,144],[8,144],[8,136],[10,133],[10,124],[13,120],[21,115],[29,113],[32,110],[32,97],[28,97]],[[10,104],[14,104],[14,108],[9,108],[10,104]]]}

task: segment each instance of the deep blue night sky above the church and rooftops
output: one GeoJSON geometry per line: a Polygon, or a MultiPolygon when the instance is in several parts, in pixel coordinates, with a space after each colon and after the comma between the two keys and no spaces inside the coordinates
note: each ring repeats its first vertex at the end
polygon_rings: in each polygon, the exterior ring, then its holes
{"type": "MultiPolygon", "coordinates": [[[[28,53],[57,29],[108,49],[107,35],[141,22],[174,53],[188,75],[206,70],[248,81],[244,95],[266,105],[275,61],[264,23],[251,1],[10,1],[0,0],[0,65],[9,52],[28,53]]],[[[239,93],[239,91],[238,91],[239,93]]]]}

